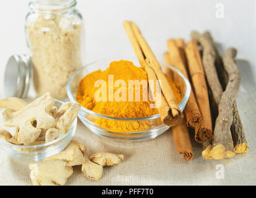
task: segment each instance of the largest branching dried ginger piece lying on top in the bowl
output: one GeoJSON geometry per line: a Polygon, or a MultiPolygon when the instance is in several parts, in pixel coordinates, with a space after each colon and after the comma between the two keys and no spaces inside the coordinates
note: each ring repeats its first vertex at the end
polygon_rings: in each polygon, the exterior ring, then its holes
{"type": "Polygon", "coordinates": [[[19,111],[7,111],[2,114],[4,126],[19,127],[18,141],[29,145],[40,136],[41,129],[49,129],[55,125],[55,118],[50,116],[50,110],[55,100],[50,93],[32,101],[19,111]]]}

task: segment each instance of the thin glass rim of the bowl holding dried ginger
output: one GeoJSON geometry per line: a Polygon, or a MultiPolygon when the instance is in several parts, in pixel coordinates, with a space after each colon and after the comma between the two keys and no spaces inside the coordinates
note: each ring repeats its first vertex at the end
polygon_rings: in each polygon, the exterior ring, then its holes
{"type": "MultiPolygon", "coordinates": [[[[61,100],[57,100],[55,99],[55,101],[58,101],[59,103],[63,104],[64,101],[61,101],[61,100]]],[[[58,139],[56,140],[53,140],[51,142],[46,142],[44,144],[38,144],[38,145],[17,145],[17,144],[11,144],[9,142],[4,142],[4,140],[0,139],[0,144],[4,144],[4,145],[7,145],[7,146],[11,146],[11,147],[15,147],[15,148],[19,148],[19,149],[35,149],[35,148],[40,148],[40,147],[46,147],[46,146],[49,146],[49,145],[52,145],[52,144],[55,144],[56,142],[64,139],[65,137],[69,136],[70,134],[72,134],[73,130],[72,127],[73,127],[73,124],[77,122],[77,117],[76,119],[74,119],[70,129],[68,130],[68,132],[66,132],[63,136],[59,137],[58,139]]]]}

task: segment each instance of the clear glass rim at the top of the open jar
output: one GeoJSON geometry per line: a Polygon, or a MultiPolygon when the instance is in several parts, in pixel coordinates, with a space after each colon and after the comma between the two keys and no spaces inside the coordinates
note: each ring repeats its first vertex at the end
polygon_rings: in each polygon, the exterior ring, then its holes
{"type": "Polygon", "coordinates": [[[76,6],[76,0],[30,0],[29,8],[39,12],[63,12],[76,6]]]}

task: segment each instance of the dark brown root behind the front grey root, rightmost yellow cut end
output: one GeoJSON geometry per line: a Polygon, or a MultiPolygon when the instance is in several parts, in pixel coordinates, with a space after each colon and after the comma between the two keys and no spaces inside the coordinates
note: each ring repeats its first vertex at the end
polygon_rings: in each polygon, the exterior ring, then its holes
{"type": "MultiPolygon", "coordinates": [[[[216,68],[218,71],[219,81],[221,82],[221,85],[223,86],[223,88],[226,88],[226,85],[228,82],[227,73],[223,67],[223,62],[221,60],[221,57],[219,56],[218,50],[216,49],[216,46],[214,45],[213,38],[211,37],[211,34],[208,31],[203,33],[203,37],[205,37],[214,48],[214,51],[216,53],[216,64],[215,65],[216,65],[216,68]]],[[[249,146],[247,144],[244,127],[242,126],[242,121],[239,116],[236,101],[234,101],[234,105],[233,105],[233,121],[232,121],[232,125],[231,125],[231,134],[232,134],[232,139],[234,142],[234,152],[235,153],[247,152],[249,150],[249,146]]]]}

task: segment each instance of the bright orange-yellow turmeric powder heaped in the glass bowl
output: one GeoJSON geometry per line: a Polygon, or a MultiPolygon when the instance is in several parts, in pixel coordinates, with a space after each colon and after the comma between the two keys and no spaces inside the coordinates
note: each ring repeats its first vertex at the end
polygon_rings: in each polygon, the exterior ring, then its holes
{"type": "MultiPolygon", "coordinates": [[[[150,108],[150,104],[154,103],[154,101],[149,100],[149,94],[147,92],[146,98],[148,100],[144,101],[143,98],[143,85],[135,84],[133,87],[128,87],[129,80],[139,80],[142,82],[145,80],[148,85],[148,75],[141,67],[136,67],[133,65],[131,61],[113,61],[110,63],[110,66],[105,71],[95,71],[88,75],[86,75],[79,84],[76,100],[82,106],[87,108],[90,111],[94,111],[95,113],[103,114],[106,116],[112,116],[115,118],[142,118],[146,116],[152,116],[154,114],[158,114],[157,108],[150,108]],[[113,76],[113,79],[110,77],[113,76]],[[95,87],[95,82],[97,80],[105,80],[105,82],[109,82],[109,80],[113,80],[113,84],[117,80],[123,80],[125,82],[125,92],[126,97],[125,101],[116,101],[115,97],[113,101],[110,100],[110,92],[116,96],[116,93],[120,92],[120,88],[123,87],[110,87],[110,85],[106,84],[108,92],[107,92],[107,100],[96,101],[95,100],[95,92],[99,90],[99,87],[95,87]],[[139,101],[136,101],[136,94],[133,94],[133,100],[129,100],[129,88],[132,88],[133,93],[136,93],[136,90],[140,90],[139,101]],[[112,89],[112,90],[111,90],[112,89]],[[118,91],[119,90],[119,91],[118,91]]],[[[177,82],[173,82],[168,79],[170,87],[172,88],[175,99],[177,103],[180,103],[182,100],[182,87],[177,82]]],[[[102,88],[102,87],[101,87],[102,88]]],[[[147,87],[148,88],[148,87],[147,87]]],[[[121,93],[125,93],[121,92],[121,93]]],[[[119,94],[118,94],[119,96],[119,94]]],[[[144,96],[145,97],[145,96],[144,96]]],[[[148,123],[130,123],[128,121],[117,121],[117,120],[108,120],[108,119],[100,119],[96,121],[100,127],[113,131],[113,132],[138,132],[147,129],[148,123]]]]}

